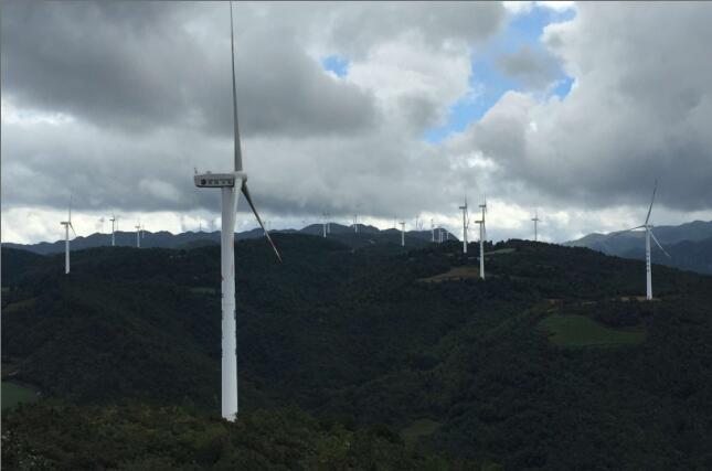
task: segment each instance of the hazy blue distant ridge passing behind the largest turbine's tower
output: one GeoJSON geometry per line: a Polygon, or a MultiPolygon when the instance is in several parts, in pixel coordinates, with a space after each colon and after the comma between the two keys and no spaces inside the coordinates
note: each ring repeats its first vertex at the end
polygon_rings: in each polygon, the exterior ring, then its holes
{"type": "MultiPolygon", "coordinates": [[[[401,232],[397,229],[381,231],[378,227],[359,224],[359,232],[353,231],[353,226],[344,226],[341,224],[331,223],[331,229],[328,238],[339,240],[352,248],[366,247],[375,244],[401,244],[401,232]]],[[[301,229],[281,229],[269,231],[269,233],[278,234],[309,234],[322,236],[323,227],[321,224],[311,224],[301,229]]],[[[435,234],[437,237],[437,233],[435,234]]],[[[235,240],[244,240],[263,237],[264,233],[261,228],[235,233],[235,240]]],[[[457,240],[451,233],[443,235],[450,240],[457,240]]],[[[116,232],[116,245],[121,247],[136,247],[136,232],[116,232]]],[[[406,246],[408,248],[421,247],[432,240],[431,231],[410,231],[405,233],[406,246]]],[[[215,232],[185,232],[181,234],[172,234],[167,231],[157,233],[144,232],[141,238],[141,247],[159,247],[159,248],[196,248],[208,245],[220,244],[220,231],[215,232]]],[[[105,247],[111,245],[111,234],[94,233],[89,236],[78,236],[72,239],[70,248],[72,250],[82,250],[85,248],[105,247]]],[[[50,255],[60,254],[64,251],[64,240],[56,240],[54,243],[41,242],[39,244],[14,244],[2,243],[2,247],[19,248],[29,250],[35,254],[50,255]]]]}

